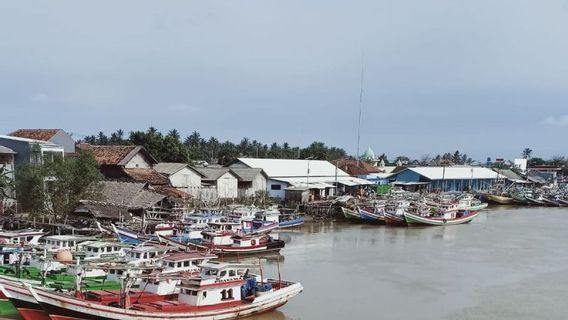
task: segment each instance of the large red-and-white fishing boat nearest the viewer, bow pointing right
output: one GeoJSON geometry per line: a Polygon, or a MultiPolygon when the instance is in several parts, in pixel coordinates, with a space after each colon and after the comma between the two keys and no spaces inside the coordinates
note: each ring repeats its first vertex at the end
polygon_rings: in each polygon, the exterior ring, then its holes
{"type": "Polygon", "coordinates": [[[276,309],[303,291],[299,282],[262,276],[259,280],[246,265],[222,262],[204,263],[199,276],[182,280],[177,300],[131,303],[125,298],[118,306],[109,306],[41,288],[28,289],[52,320],[236,319],[276,309]]]}

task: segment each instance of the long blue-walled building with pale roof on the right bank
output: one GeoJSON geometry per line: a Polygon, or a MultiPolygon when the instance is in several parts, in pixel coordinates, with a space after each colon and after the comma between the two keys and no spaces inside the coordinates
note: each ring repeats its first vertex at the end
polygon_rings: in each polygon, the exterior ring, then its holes
{"type": "Polygon", "coordinates": [[[393,184],[408,190],[464,191],[487,190],[498,179],[498,174],[488,168],[453,167],[409,167],[392,177],[393,184]]]}

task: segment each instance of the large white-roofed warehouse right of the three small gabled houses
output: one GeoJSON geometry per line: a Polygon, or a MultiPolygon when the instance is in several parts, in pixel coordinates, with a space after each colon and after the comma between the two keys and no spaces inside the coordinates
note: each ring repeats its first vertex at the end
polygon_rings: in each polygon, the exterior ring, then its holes
{"type": "Polygon", "coordinates": [[[285,198],[290,187],[307,187],[312,198],[319,199],[335,195],[336,183],[342,190],[371,184],[325,160],[238,158],[229,167],[262,169],[268,177],[269,196],[280,199],[285,198]]]}

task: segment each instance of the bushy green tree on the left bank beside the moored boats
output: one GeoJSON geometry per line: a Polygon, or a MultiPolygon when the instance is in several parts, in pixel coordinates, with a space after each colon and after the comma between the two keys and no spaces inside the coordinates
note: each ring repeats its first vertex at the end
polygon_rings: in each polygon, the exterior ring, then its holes
{"type": "Polygon", "coordinates": [[[79,200],[98,198],[102,179],[89,151],[65,160],[23,164],[16,170],[18,202],[24,211],[59,221],[72,212],[79,200]]]}

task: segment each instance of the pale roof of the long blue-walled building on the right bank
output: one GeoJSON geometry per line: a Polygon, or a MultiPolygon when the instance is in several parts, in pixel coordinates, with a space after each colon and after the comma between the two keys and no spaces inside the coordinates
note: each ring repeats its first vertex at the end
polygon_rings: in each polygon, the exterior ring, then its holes
{"type": "Polygon", "coordinates": [[[430,180],[452,179],[497,179],[497,173],[482,167],[415,167],[414,171],[430,180]]]}

